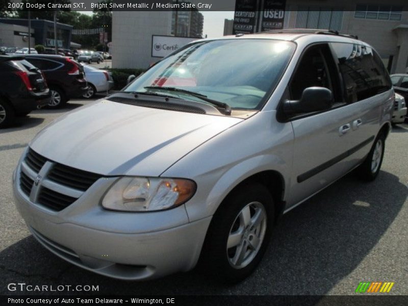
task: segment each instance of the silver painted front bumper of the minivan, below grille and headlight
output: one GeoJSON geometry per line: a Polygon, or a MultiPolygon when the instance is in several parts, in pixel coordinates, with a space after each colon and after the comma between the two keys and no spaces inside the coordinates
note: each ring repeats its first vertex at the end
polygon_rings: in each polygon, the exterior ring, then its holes
{"type": "Polygon", "coordinates": [[[21,191],[19,171],[17,167],[13,177],[16,207],[33,236],[62,259],[127,280],[161,277],[196,265],[211,217],[188,222],[184,206],[154,213],[104,210],[98,202],[111,179],[99,179],[69,207],[52,212],[21,191]]]}

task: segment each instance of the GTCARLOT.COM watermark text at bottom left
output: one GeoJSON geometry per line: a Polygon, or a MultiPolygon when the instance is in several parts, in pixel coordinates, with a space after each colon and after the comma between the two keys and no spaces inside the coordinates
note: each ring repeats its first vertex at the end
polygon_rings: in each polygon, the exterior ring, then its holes
{"type": "Polygon", "coordinates": [[[7,285],[7,289],[17,292],[95,292],[99,291],[99,285],[32,285],[26,283],[10,283],[7,285]]]}

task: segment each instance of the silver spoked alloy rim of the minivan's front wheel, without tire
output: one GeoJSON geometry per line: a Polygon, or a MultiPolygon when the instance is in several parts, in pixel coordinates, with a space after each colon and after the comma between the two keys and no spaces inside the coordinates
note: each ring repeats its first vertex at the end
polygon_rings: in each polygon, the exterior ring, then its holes
{"type": "Polygon", "coordinates": [[[251,202],[239,212],[226,245],[228,262],[233,268],[242,269],[257,256],[266,226],[267,215],[262,203],[251,202]]]}

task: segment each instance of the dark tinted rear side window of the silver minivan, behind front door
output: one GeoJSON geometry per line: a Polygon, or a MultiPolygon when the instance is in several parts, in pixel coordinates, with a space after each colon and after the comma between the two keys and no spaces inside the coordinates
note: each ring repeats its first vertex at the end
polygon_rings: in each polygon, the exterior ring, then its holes
{"type": "Polygon", "coordinates": [[[379,56],[370,47],[330,43],[338,59],[348,103],[391,89],[391,80],[379,56]]]}

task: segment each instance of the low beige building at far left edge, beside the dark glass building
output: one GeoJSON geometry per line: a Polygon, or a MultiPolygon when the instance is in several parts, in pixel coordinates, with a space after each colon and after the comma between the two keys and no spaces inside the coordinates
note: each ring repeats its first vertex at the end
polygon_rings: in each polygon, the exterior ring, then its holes
{"type": "MultiPolygon", "coordinates": [[[[31,29],[31,46],[34,47],[34,29],[31,29]]],[[[22,25],[0,23],[0,46],[24,48],[29,46],[29,28],[22,25]]]]}

